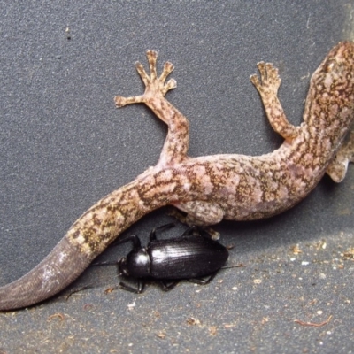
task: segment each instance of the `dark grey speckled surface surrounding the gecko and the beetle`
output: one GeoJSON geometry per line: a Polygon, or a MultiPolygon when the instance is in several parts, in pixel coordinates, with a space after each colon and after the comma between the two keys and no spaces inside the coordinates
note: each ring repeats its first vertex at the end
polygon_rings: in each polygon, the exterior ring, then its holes
{"type": "MultiPolygon", "coordinates": [[[[91,204],[156,164],[164,124],[142,105],[113,103],[142,93],[134,63],[146,65],[145,50],[158,50],[159,68],[175,65],[178,88],[167,97],[190,120],[191,156],[259,155],[281,137],[250,84],[256,63],[280,68],[281,103],[297,125],[311,73],[354,33],[349,1],[92,3],[0,1],[1,285],[37,265],[91,204]]],[[[351,165],[341,184],[325,177],[278,217],[221,223],[220,241],[235,246],[229,264],[244,267],[206,287],[106,295],[115,268],[90,268],[73,288],[95,289],[0,314],[0,352],[353,352],[353,201],[351,165]],[[329,316],[322,327],[294,322],[329,316]]],[[[165,212],[126,235],[146,240],[171,220],[165,212]]]]}

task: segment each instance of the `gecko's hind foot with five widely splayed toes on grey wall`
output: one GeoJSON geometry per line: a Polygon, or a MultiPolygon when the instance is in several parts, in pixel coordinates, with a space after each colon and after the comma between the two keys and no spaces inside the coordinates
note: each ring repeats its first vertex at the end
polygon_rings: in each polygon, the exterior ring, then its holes
{"type": "Polygon", "coordinates": [[[148,58],[150,65],[150,75],[145,72],[141,63],[135,63],[136,70],[146,87],[144,94],[141,96],[132,97],[115,96],[114,102],[117,107],[122,107],[126,104],[146,103],[151,97],[165,96],[168,90],[177,87],[177,83],[174,79],[171,79],[165,83],[166,77],[173,71],[173,64],[166,62],[160,77],[158,77],[156,70],[158,52],[154,50],[148,50],[146,52],[146,57],[148,58]]]}

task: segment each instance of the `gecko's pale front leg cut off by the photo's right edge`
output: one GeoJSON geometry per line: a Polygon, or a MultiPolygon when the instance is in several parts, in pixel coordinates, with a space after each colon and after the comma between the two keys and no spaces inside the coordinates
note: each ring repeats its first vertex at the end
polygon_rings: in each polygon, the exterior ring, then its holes
{"type": "Polygon", "coordinates": [[[354,131],[350,132],[348,140],[339,148],[326,173],[333,181],[339,183],[344,179],[350,162],[354,163],[354,131]]]}

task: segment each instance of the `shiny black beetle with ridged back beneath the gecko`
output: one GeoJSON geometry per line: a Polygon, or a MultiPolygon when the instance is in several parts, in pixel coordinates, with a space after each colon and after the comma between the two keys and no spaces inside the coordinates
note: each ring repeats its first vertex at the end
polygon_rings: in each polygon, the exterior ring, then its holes
{"type": "Polygon", "coordinates": [[[142,247],[136,235],[130,235],[119,241],[119,243],[133,242],[133,250],[127,257],[119,260],[119,273],[138,280],[137,289],[123,282],[119,283],[121,288],[140,294],[147,278],[160,281],[165,291],[173,289],[178,280],[206,284],[226,263],[227,249],[219,242],[201,235],[197,227],[189,227],[180,237],[157,240],[156,232],[168,227],[174,227],[174,224],[152,230],[146,248],[142,247]],[[210,278],[207,281],[195,279],[208,275],[210,278]]]}

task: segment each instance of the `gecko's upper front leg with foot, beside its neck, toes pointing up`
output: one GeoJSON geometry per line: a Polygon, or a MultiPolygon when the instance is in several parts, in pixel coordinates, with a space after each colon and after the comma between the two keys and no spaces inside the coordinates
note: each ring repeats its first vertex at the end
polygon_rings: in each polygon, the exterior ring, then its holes
{"type": "Polygon", "coordinates": [[[291,142],[298,135],[298,127],[290,124],[278,99],[278,89],[281,86],[281,77],[278,74],[278,69],[273,64],[263,61],[259,62],[257,67],[260,73],[260,80],[257,74],[253,74],[250,75],[250,81],[258,90],[269,123],[275,132],[291,142]]]}

